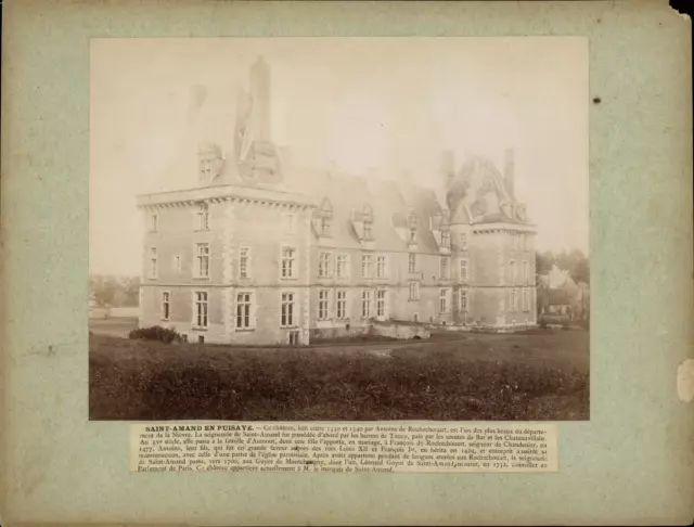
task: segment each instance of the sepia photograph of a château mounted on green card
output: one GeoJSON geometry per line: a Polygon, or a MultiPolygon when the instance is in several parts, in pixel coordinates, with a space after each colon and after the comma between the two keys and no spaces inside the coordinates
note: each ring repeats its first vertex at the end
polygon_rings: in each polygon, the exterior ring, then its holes
{"type": "Polygon", "coordinates": [[[587,39],[90,46],[91,420],[590,417],[587,39]]]}

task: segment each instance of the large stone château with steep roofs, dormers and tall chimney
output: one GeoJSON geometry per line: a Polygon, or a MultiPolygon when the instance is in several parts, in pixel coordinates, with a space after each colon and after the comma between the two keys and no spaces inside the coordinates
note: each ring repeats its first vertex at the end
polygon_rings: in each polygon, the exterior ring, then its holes
{"type": "Polygon", "coordinates": [[[444,153],[436,189],[293,167],[274,145],[264,171],[246,152],[270,141],[267,65],[252,80],[242,140],[205,143],[195,188],[138,198],[141,325],[306,345],[370,333],[374,321],[536,324],[535,227],[513,195],[512,155],[501,175],[485,159],[455,171],[444,153]]]}

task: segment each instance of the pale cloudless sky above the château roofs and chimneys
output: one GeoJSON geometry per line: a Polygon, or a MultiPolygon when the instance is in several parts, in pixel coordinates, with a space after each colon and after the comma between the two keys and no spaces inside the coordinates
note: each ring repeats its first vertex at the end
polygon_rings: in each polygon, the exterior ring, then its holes
{"type": "Polygon", "coordinates": [[[271,68],[272,138],[296,164],[409,171],[432,187],[442,150],[457,166],[486,155],[502,169],[513,147],[538,248],[588,254],[584,38],[94,39],[91,272],[139,273],[134,196],[171,188],[166,167],[198,139],[231,144],[235,88],[258,55],[271,68]]]}

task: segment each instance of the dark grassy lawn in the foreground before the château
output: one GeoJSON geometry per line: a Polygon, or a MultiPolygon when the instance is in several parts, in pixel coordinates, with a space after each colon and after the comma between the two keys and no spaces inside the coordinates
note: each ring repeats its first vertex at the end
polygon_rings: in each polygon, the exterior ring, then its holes
{"type": "Polygon", "coordinates": [[[90,336],[93,420],[587,420],[588,334],[241,349],[90,336]]]}

